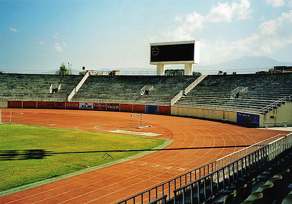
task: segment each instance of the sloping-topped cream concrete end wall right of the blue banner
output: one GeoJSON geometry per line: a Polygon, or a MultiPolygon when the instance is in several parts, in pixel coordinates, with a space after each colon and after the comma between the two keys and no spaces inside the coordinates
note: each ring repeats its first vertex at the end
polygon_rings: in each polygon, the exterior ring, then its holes
{"type": "Polygon", "coordinates": [[[280,107],[261,115],[259,122],[260,127],[283,127],[284,124],[264,124],[264,122],[284,122],[287,121],[287,126],[292,126],[292,102],[286,102],[280,107]]]}

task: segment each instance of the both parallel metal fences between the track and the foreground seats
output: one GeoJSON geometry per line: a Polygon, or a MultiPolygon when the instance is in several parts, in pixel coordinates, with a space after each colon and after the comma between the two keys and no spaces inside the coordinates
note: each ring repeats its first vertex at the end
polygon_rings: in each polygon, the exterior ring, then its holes
{"type": "Polygon", "coordinates": [[[175,204],[202,203],[291,146],[292,133],[276,135],[184,173],[118,204],[146,204],[164,195],[167,195],[169,200],[175,199],[175,204]],[[196,202],[191,202],[190,198],[196,202]]]}

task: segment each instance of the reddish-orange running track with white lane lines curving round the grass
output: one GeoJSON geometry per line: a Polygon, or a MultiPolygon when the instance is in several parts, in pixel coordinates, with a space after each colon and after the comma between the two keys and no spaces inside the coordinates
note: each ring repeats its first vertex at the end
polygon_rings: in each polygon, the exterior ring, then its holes
{"type": "MultiPolygon", "coordinates": [[[[131,113],[73,110],[12,109],[12,123],[103,131],[130,130],[131,113]]],[[[2,109],[2,122],[9,122],[10,109],[2,109]]],[[[143,114],[143,131],[162,133],[172,139],[167,148],[252,145],[279,133],[192,118],[143,114]]],[[[163,183],[237,148],[156,151],[131,161],[104,167],[67,179],[0,197],[11,203],[116,203],[163,183]]]]}

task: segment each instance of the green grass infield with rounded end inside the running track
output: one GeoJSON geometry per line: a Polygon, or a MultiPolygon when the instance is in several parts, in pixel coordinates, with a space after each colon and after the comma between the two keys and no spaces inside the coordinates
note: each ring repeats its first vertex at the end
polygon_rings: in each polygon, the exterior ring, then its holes
{"type": "Polygon", "coordinates": [[[55,129],[16,124],[0,125],[0,191],[117,161],[149,149],[163,139],[55,129]],[[86,151],[86,153],[84,153],[86,151]],[[75,153],[74,153],[75,152],[75,153]]]}

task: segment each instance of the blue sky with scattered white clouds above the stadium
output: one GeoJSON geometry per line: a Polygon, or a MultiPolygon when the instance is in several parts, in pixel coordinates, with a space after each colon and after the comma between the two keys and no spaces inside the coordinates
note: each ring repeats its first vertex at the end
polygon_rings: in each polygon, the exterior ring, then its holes
{"type": "Polygon", "coordinates": [[[292,0],[0,0],[0,70],[155,68],[149,44],[199,40],[200,65],[292,61],[292,0]]]}

